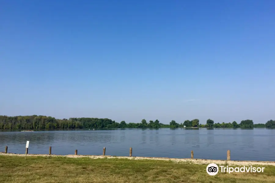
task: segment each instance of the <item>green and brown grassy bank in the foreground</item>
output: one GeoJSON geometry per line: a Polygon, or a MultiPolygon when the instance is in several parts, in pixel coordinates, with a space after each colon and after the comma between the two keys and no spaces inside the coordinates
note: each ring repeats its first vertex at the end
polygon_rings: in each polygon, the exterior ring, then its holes
{"type": "MultiPolygon", "coordinates": [[[[218,173],[207,165],[162,160],[90,159],[0,155],[0,182],[274,182],[275,167],[263,173],[218,173]]],[[[258,167],[258,166],[257,166],[258,167]]],[[[261,166],[259,166],[261,167],[261,166]]]]}

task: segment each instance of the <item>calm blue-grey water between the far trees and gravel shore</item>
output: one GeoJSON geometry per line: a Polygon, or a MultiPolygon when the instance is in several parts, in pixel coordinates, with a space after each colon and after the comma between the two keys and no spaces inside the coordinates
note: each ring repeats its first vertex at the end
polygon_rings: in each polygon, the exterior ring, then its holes
{"type": "Polygon", "coordinates": [[[112,130],[53,130],[53,131],[0,131],[0,151],[28,153],[190,158],[225,160],[231,150],[231,160],[275,161],[275,130],[254,129],[112,129],[112,130]]]}

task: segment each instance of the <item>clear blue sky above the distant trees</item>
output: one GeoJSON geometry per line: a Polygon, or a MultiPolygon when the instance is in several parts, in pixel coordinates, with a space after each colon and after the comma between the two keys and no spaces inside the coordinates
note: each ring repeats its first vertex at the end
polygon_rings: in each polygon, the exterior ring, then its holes
{"type": "Polygon", "coordinates": [[[0,113],[275,119],[275,1],[1,1],[0,113]]]}

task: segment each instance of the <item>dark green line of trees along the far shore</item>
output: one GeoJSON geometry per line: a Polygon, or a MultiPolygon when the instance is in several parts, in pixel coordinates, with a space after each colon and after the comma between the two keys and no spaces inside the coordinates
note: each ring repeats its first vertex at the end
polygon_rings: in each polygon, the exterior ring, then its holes
{"type": "Polygon", "coordinates": [[[209,128],[252,128],[252,127],[275,127],[275,120],[269,120],[266,124],[254,124],[253,120],[242,120],[240,124],[236,121],[232,123],[214,123],[208,119],[206,124],[200,124],[200,120],[185,120],[178,124],[172,120],[170,124],[162,124],[159,120],[150,120],[149,123],[145,119],[141,123],[120,123],[108,118],[69,118],[56,119],[50,116],[0,116],[1,130],[21,130],[21,129],[81,129],[81,128],[178,128],[178,127],[209,127],[209,128]]]}

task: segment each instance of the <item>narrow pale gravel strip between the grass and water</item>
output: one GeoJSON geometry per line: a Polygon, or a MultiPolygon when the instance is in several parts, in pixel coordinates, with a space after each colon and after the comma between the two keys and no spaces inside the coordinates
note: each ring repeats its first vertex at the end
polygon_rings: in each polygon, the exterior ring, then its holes
{"type": "MultiPolygon", "coordinates": [[[[3,156],[26,156],[25,154],[13,154],[13,153],[3,153],[0,152],[0,155],[3,156]]],[[[194,163],[194,164],[226,164],[231,166],[250,166],[250,165],[269,165],[275,166],[274,161],[226,161],[226,160],[204,160],[204,159],[180,159],[180,158],[157,158],[157,157],[130,157],[130,156],[97,156],[97,155],[47,155],[47,154],[27,154],[27,156],[44,156],[44,157],[67,157],[67,158],[118,158],[118,159],[130,159],[130,160],[164,160],[164,161],[172,161],[175,163],[194,163]]]]}

